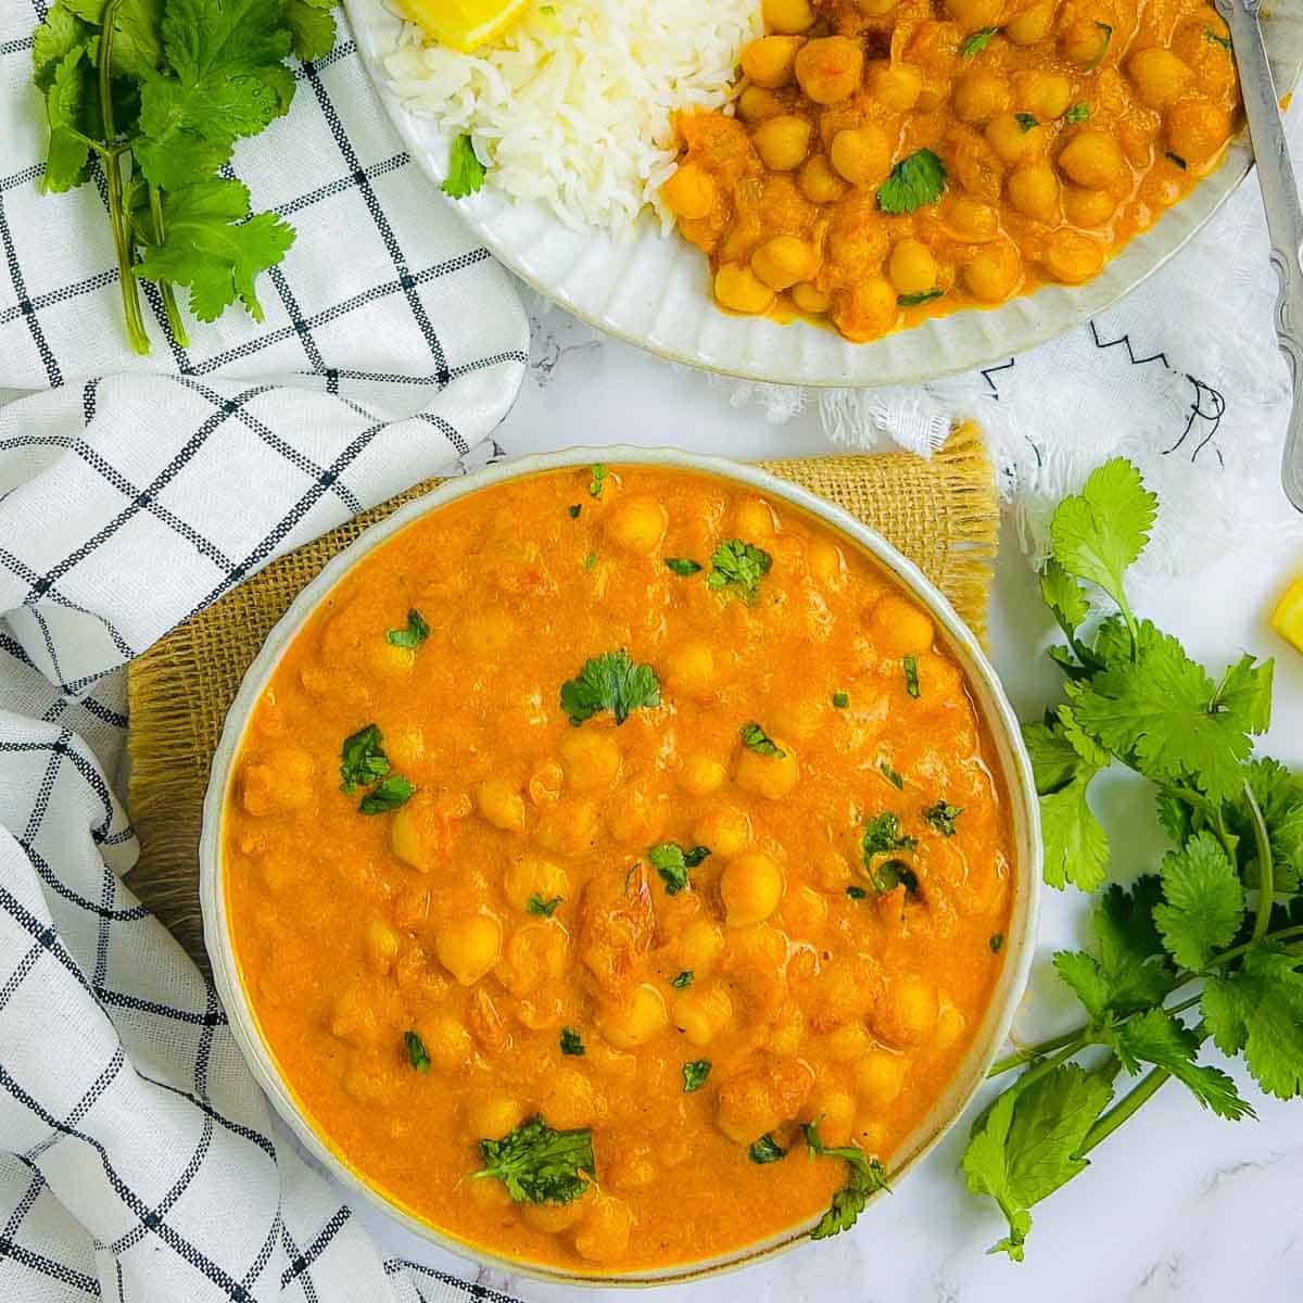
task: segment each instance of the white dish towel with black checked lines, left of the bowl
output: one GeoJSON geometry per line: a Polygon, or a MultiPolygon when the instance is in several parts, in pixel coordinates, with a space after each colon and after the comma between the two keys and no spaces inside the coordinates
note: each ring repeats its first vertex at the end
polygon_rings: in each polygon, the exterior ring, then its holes
{"type": "Polygon", "coordinates": [[[483,457],[524,314],[341,31],[236,154],[298,232],[266,323],[232,310],[169,351],[147,298],[141,360],[98,189],[38,192],[43,12],[0,0],[0,1299],[493,1298],[382,1260],[122,887],[115,671],[278,552],[483,457]]]}

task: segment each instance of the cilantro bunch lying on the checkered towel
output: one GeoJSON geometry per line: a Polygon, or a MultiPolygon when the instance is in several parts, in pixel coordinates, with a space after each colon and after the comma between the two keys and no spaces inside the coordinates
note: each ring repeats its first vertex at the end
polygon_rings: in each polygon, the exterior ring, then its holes
{"type": "Polygon", "coordinates": [[[235,142],[289,108],[284,60],[335,43],[331,0],[57,0],[33,43],[46,100],[44,188],[70,190],[95,165],[117,253],[126,334],[150,340],[141,280],[158,284],[168,328],[189,344],[175,285],[215,321],[237,298],[255,321],[261,271],[294,240],[274,212],[250,216],[249,192],[222,172],[235,142]]]}

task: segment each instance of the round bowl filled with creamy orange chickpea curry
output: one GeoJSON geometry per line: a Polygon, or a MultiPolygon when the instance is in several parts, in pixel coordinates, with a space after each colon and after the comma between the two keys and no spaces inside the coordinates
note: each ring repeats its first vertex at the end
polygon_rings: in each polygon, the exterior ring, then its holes
{"type": "Polygon", "coordinates": [[[939,597],[665,457],[380,526],[272,635],[206,810],[274,1102],[409,1225],[572,1280],[850,1226],[980,1081],[1038,877],[939,597]]]}

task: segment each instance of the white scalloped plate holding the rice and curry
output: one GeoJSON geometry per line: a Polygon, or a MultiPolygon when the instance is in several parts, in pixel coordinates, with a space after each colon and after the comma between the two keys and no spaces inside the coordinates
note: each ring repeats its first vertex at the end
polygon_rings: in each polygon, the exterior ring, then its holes
{"type": "MultiPolygon", "coordinates": [[[[344,8],[390,119],[431,181],[440,181],[447,138],[435,122],[403,107],[382,63],[383,52],[394,47],[399,18],[383,0],[344,0],[344,8]]],[[[1263,14],[1263,30],[1277,91],[1285,95],[1303,68],[1303,0],[1278,0],[1270,14],[1263,14]]],[[[661,236],[649,227],[631,242],[615,244],[598,231],[572,231],[541,205],[515,203],[491,186],[456,207],[523,280],[589,324],[662,357],[778,384],[906,384],[1020,353],[1108,308],[1213,215],[1252,160],[1242,134],[1212,176],[1085,285],[1045,285],[999,308],[930,318],[872,344],[850,344],[801,322],[780,326],[719,311],[710,298],[706,259],[676,235],[661,236]]],[[[450,201],[431,188],[431,202],[450,201]]]]}

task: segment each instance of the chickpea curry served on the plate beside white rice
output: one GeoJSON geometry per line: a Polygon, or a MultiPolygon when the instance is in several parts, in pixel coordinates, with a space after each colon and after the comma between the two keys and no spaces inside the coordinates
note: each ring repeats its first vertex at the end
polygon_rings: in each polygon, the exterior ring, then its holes
{"type": "Polygon", "coordinates": [[[662,194],[732,313],[868,341],[1091,280],[1220,163],[1203,0],[764,0],[730,111],[680,113],[662,194]]]}

